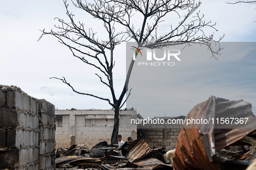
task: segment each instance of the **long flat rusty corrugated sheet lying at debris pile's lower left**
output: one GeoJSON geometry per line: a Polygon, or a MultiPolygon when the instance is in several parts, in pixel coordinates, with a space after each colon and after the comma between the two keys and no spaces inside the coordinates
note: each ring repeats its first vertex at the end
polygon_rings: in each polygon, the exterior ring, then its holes
{"type": "Polygon", "coordinates": [[[102,161],[98,159],[93,159],[89,157],[76,157],[76,156],[65,156],[59,157],[55,160],[56,166],[64,165],[64,164],[75,164],[79,166],[97,166],[102,164],[102,161]]]}

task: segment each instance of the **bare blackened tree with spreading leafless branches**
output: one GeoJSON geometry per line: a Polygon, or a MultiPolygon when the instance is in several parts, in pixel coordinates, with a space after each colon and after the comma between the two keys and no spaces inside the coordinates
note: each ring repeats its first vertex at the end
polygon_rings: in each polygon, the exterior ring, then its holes
{"type": "MultiPolygon", "coordinates": [[[[123,101],[123,98],[128,91],[134,64],[134,60],[132,60],[126,74],[123,90],[120,96],[117,97],[113,88],[112,72],[115,64],[113,52],[118,44],[132,40],[137,42],[138,48],[160,48],[166,45],[199,43],[206,45],[214,58],[220,50],[220,48],[213,50],[211,44],[220,41],[221,37],[214,41],[213,34],[206,35],[204,33],[205,28],[210,28],[213,32],[217,31],[214,28],[216,23],[205,22],[203,15],[195,13],[201,2],[196,3],[194,0],[96,0],[94,3],[87,3],[86,1],[75,0],[72,3],[95,19],[100,19],[102,31],[105,31],[107,38],[99,40],[101,38],[97,37],[91,28],[85,31],[85,27],[90,23],[76,22],[74,15],[68,10],[69,4],[66,0],[64,4],[69,21],[65,22],[63,19],[57,18],[59,22],[59,25],[55,25],[57,31],[45,31],[44,29],[42,30],[42,36],[53,35],[60,43],[71,50],[74,57],[100,71],[100,74],[96,74],[96,76],[99,77],[100,82],[109,88],[112,100],[76,91],[66,81],[65,77],[52,78],[62,80],[78,94],[107,101],[115,109],[111,144],[117,144],[119,109],[126,101],[123,101]],[[193,17],[191,16],[192,13],[195,13],[193,17]],[[158,31],[159,23],[163,22],[164,19],[169,19],[170,16],[166,17],[169,14],[178,16],[179,21],[173,23],[173,25],[169,24],[168,31],[160,34],[158,31]],[[138,20],[139,18],[141,18],[141,21],[138,20]],[[136,27],[135,23],[140,26],[136,27]],[[117,31],[117,29],[124,31],[117,31]]],[[[126,99],[129,95],[130,93],[126,96],[126,99]]]]}

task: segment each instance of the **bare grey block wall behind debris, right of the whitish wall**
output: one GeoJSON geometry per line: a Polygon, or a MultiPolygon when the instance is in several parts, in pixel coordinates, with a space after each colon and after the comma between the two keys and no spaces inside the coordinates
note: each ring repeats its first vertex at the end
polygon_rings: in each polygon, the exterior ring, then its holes
{"type": "Polygon", "coordinates": [[[178,135],[181,132],[182,124],[168,126],[139,126],[137,138],[143,138],[152,148],[165,148],[167,151],[175,149],[178,135]]]}

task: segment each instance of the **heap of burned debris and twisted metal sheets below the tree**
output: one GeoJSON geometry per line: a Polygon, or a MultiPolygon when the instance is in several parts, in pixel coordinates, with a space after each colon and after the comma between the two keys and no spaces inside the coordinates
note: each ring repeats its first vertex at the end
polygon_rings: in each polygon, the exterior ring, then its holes
{"type": "Polygon", "coordinates": [[[118,156],[119,151],[114,151],[114,148],[107,145],[107,142],[100,142],[91,150],[84,144],[72,145],[68,149],[58,148],[55,151],[57,170],[58,168],[116,170],[126,167],[172,170],[172,164],[167,159],[164,148],[153,149],[144,139],[137,139],[131,144],[126,142],[126,145],[120,148],[127,153],[125,156],[118,156]]]}

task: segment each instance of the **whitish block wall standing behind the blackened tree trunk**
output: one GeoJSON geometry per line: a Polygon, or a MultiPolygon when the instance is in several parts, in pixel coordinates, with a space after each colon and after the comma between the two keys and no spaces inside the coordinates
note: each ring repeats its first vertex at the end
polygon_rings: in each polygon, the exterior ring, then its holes
{"type": "MultiPolygon", "coordinates": [[[[85,144],[92,148],[99,142],[111,143],[114,110],[55,110],[55,114],[62,115],[62,127],[56,127],[56,149],[69,148],[74,144],[85,144]],[[86,117],[93,118],[92,122],[95,123],[86,126],[86,117]]],[[[137,126],[130,124],[131,117],[136,118],[136,111],[120,110],[119,134],[124,142],[129,136],[133,140],[137,138],[137,126]]]]}

